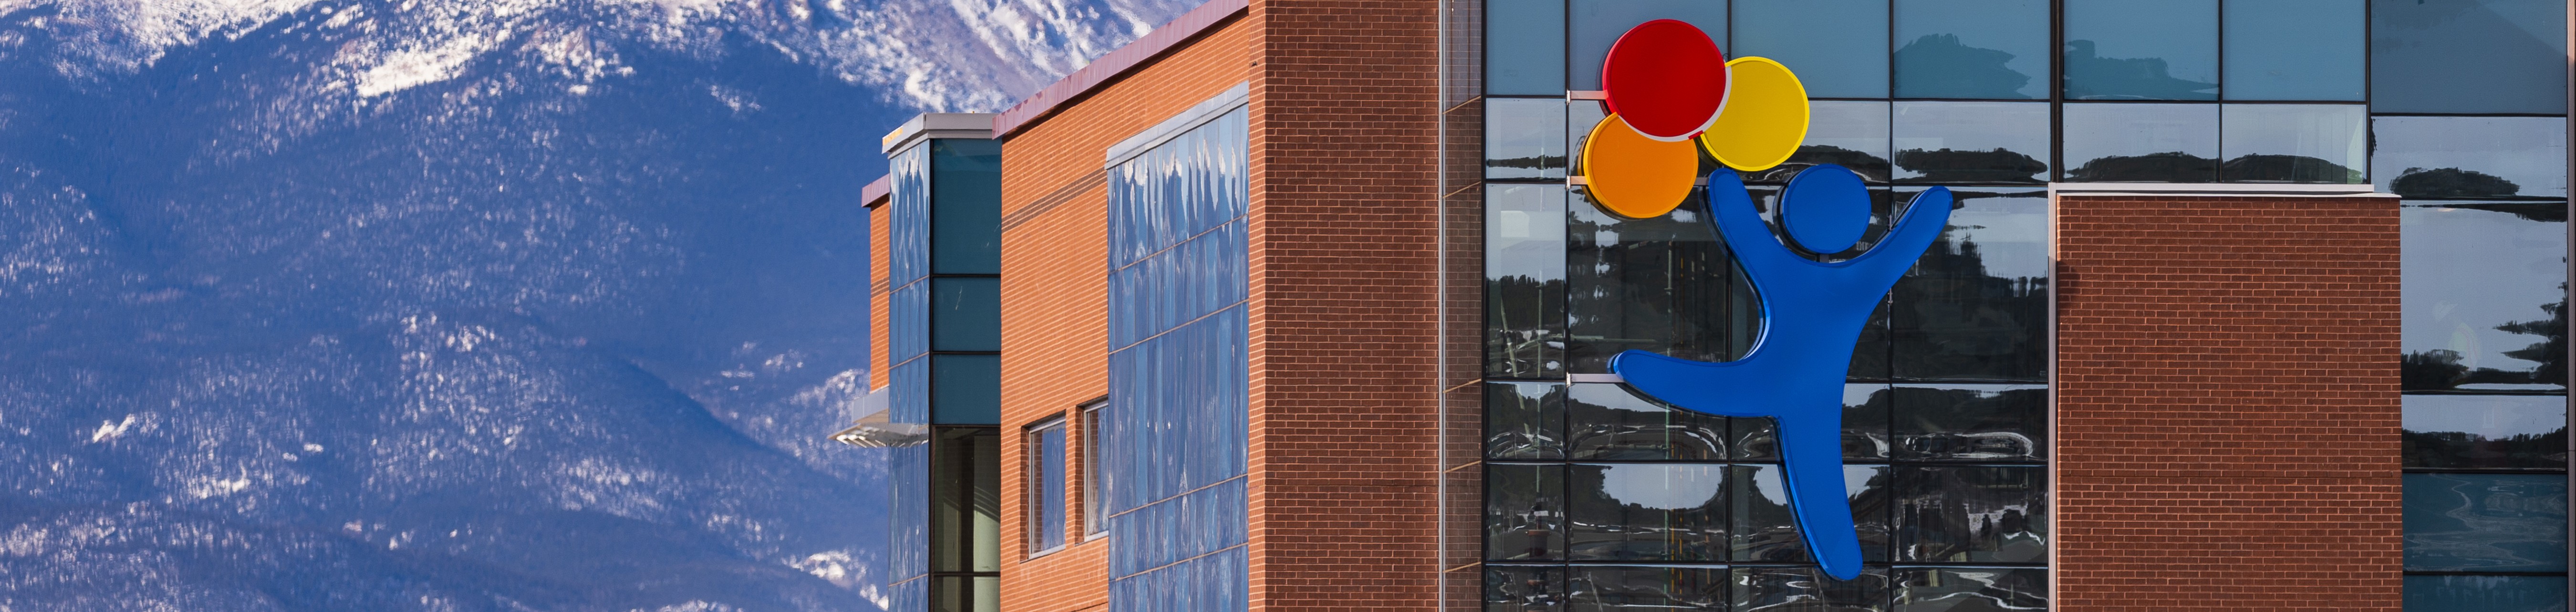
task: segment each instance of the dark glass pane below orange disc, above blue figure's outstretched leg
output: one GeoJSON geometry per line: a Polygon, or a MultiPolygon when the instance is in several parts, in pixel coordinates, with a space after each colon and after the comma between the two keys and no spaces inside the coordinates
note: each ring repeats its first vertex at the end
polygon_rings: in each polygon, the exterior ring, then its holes
{"type": "Polygon", "coordinates": [[[1656,219],[1618,219],[1584,198],[1566,208],[1569,373],[1607,373],[1620,350],[1685,360],[1749,350],[1762,306],[1703,221],[1703,198],[1656,219]]]}

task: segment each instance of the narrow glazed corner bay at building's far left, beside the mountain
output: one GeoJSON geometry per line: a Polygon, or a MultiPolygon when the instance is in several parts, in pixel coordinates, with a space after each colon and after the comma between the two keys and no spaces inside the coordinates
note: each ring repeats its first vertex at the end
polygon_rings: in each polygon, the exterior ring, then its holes
{"type": "Polygon", "coordinates": [[[1002,147],[927,139],[889,159],[889,422],[896,609],[999,604],[1002,147]]]}

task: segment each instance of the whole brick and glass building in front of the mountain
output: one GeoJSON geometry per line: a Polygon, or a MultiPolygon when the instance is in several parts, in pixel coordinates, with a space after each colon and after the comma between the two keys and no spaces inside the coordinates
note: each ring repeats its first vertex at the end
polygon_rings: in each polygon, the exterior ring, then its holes
{"type": "Polygon", "coordinates": [[[886,136],[840,440],[891,450],[907,612],[2563,612],[2566,21],[1213,0],[886,136]],[[1584,159],[1659,18],[1808,126],[1636,216],[1584,159]],[[1741,190],[1795,247],[1824,172],[1870,226],[1814,262],[1950,201],[1842,383],[1852,579],[1775,419],[1613,368],[1795,342],[1713,226],[1741,190]]]}

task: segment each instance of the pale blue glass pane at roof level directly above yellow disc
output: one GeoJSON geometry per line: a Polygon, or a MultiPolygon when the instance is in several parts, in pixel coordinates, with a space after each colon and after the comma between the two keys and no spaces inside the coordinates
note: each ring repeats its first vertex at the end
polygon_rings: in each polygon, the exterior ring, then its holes
{"type": "Polygon", "coordinates": [[[1777,59],[1808,98],[1888,98],[1886,31],[1888,0],[1736,0],[1728,57],[1777,59]]]}

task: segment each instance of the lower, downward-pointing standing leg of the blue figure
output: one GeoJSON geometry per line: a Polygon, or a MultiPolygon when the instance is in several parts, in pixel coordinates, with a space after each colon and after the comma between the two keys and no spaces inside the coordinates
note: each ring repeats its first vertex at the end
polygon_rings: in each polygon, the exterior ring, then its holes
{"type": "Polygon", "coordinates": [[[1860,576],[1860,532],[1852,527],[1850,491],[1842,486],[1842,411],[1785,414],[1780,458],[1788,463],[1788,499],[1798,509],[1798,535],[1816,566],[1834,579],[1860,576]]]}

